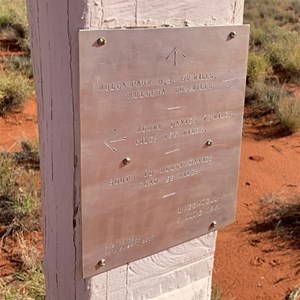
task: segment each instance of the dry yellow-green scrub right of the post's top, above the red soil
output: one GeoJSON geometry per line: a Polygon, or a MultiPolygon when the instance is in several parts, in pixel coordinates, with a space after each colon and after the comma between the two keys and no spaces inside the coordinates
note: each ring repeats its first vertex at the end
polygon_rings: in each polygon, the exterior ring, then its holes
{"type": "Polygon", "coordinates": [[[300,99],[287,91],[300,83],[300,2],[245,0],[244,19],[251,24],[246,103],[274,114],[293,133],[300,128],[300,99]]]}

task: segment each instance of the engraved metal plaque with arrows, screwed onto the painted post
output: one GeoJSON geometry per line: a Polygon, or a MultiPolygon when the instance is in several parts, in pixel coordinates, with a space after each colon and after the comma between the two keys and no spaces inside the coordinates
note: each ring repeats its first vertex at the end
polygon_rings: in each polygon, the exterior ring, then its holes
{"type": "Polygon", "coordinates": [[[234,221],[248,38],[80,31],[85,278],[234,221]]]}

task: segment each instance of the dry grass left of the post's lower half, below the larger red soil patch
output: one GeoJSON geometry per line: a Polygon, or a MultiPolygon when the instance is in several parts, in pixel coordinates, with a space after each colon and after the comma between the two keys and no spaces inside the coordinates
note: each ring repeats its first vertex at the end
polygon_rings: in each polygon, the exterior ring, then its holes
{"type": "Polygon", "coordinates": [[[45,299],[41,254],[25,235],[41,229],[38,143],[22,141],[21,151],[0,153],[0,245],[18,264],[0,279],[0,299],[45,299]],[[6,240],[18,252],[6,249],[6,240]]]}

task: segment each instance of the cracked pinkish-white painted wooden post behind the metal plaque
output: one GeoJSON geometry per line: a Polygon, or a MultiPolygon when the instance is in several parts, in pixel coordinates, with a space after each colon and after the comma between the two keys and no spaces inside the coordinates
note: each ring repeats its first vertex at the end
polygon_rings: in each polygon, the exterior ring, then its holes
{"type": "Polygon", "coordinates": [[[243,0],[27,0],[41,144],[47,299],[209,299],[215,234],[83,280],[78,30],[241,24],[243,0]]]}

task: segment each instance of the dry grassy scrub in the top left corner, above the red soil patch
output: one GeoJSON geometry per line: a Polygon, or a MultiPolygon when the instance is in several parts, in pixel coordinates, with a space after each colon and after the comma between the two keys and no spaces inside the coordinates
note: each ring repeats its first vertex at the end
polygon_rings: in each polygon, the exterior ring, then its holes
{"type": "MultiPolygon", "coordinates": [[[[20,108],[33,93],[24,0],[0,0],[0,116],[20,108]],[[22,55],[14,52],[22,51],[22,55]]],[[[17,52],[20,54],[20,52],[17,52]]]]}

